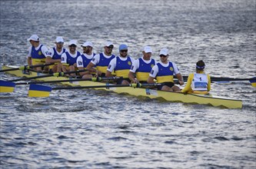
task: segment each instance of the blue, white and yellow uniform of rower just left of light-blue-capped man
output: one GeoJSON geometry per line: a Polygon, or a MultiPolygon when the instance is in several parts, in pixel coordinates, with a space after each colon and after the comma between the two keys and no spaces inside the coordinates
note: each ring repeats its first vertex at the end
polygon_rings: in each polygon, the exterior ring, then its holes
{"type": "Polygon", "coordinates": [[[101,77],[105,76],[105,72],[107,71],[108,65],[110,63],[110,61],[115,58],[115,55],[105,55],[104,52],[95,55],[92,60],[91,63],[93,63],[94,65],[96,65],[96,68],[98,71],[101,71],[101,77]]]}

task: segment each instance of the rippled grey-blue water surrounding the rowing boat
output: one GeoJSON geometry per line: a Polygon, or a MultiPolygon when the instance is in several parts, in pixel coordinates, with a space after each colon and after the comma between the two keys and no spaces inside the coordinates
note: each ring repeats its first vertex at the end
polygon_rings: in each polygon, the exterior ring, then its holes
{"type": "MultiPolygon", "coordinates": [[[[182,75],[203,59],[214,77],[256,75],[254,0],[1,1],[0,60],[25,65],[27,38],[126,43],[134,58],[167,47],[182,75]]],[[[67,45],[65,44],[65,47],[67,45]]],[[[78,48],[81,51],[81,48],[78,48]]],[[[1,74],[1,79],[14,79],[1,74]]],[[[53,85],[55,86],[55,85],[53,85]]],[[[27,98],[28,86],[1,94],[2,168],[255,168],[255,88],[212,85],[242,109],[167,103],[106,91],[53,91],[27,98]]]]}

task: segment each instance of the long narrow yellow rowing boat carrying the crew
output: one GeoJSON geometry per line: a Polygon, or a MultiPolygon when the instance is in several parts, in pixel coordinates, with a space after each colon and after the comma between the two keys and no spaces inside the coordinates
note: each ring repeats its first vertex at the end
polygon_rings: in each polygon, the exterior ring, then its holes
{"type": "MultiPolygon", "coordinates": [[[[9,68],[17,68],[11,65],[3,65],[2,70],[9,68]]],[[[23,74],[20,70],[15,71],[6,71],[6,73],[15,75],[17,77],[35,77],[37,76],[37,72],[30,71],[28,74],[23,74]]],[[[40,81],[52,81],[52,80],[64,80],[67,79],[65,77],[47,77],[40,78],[40,81]]],[[[62,85],[71,85],[71,86],[95,86],[102,85],[102,82],[98,81],[76,81],[75,83],[70,82],[61,82],[62,85]]],[[[182,94],[175,92],[167,92],[167,91],[157,91],[154,89],[148,88],[94,88],[95,90],[105,90],[105,91],[114,91],[118,94],[130,94],[137,97],[147,97],[152,99],[161,99],[164,101],[175,101],[175,102],[183,102],[189,104],[208,104],[214,107],[220,106],[223,108],[242,108],[242,101],[231,99],[231,98],[223,98],[214,96],[212,94],[182,94]]]]}

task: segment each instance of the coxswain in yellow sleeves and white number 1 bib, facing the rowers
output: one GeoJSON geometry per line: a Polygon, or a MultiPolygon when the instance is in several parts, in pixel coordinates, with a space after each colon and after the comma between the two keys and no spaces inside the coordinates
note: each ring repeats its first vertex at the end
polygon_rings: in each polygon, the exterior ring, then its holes
{"type": "Polygon", "coordinates": [[[204,61],[198,61],[195,66],[196,73],[188,75],[188,81],[185,88],[181,90],[182,93],[208,94],[211,90],[211,78],[204,73],[204,68],[204,61]]]}

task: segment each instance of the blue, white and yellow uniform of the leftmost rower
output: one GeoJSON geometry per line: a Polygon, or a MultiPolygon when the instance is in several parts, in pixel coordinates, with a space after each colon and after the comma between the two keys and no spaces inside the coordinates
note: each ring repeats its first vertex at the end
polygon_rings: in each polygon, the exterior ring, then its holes
{"type": "Polygon", "coordinates": [[[30,46],[28,48],[28,58],[32,58],[32,65],[45,63],[45,58],[48,56],[48,48],[45,45],[38,45],[37,48],[30,46]]]}

